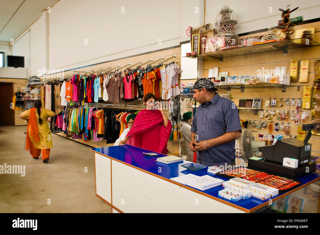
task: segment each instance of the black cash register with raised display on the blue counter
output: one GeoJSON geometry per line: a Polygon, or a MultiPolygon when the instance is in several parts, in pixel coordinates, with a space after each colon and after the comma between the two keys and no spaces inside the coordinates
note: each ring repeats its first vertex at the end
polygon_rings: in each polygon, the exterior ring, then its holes
{"type": "Polygon", "coordinates": [[[306,176],[316,171],[316,164],[310,162],[311,144],[308,143],[311,137],[311,130],[315,128],[314,124],[303,124],[302,130],[308,131],[304,141],[295,138],[286,138],[277,140],[274,145],[259,147],[262,153],[261,161],[249,159],[248,168],[256,168],[267,171],[271,174],[281,174],[292,178],[306,176]],[[284,158],[298,160],[297,168],[283,166],[284,158]]]}

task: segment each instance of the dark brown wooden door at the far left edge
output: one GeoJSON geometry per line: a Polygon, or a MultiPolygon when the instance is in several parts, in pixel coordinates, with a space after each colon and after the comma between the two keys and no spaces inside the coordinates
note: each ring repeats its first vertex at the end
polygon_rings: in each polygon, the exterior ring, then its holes
{"type": "Polygon", "coordinates": [[[0,82],[0,126],[14,126],[14,110],[11,108],[13,82],[0,82]]]}

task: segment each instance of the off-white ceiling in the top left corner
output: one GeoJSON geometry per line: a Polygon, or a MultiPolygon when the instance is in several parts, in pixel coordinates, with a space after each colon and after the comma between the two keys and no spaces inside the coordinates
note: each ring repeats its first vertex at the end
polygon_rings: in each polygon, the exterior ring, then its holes
{"type": "Polygon", "coordinates": [[[16,39],[59,0],[0,0],[0,41],[16,39]]]}

